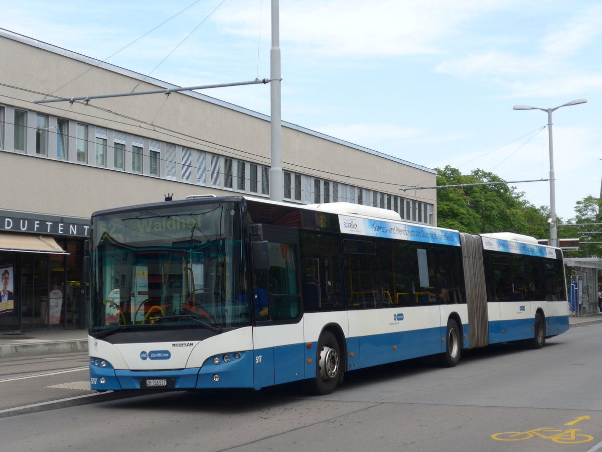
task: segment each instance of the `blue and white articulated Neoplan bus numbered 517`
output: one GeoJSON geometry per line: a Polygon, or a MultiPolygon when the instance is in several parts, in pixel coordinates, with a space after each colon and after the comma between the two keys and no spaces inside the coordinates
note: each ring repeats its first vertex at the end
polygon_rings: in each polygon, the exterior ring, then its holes
{"type": "Polygon", "coordinates": [[[92,389],[255,388],[568,330],[562,252],[349,203],[197,196],[96,212],[92,389]]]}

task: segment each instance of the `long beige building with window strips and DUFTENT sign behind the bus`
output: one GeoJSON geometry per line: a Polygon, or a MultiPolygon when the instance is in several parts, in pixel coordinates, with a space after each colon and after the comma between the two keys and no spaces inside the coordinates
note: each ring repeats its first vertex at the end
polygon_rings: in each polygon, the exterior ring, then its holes
{"type": "MultiPolygon", "coordinates": [[[[168,193],[270,197],[269,116],[190,91],[37,103],[175,86],[5,30],[0,59],[0,331],[85,328],[96,210],[168,193]]],[[[287,122],[282,168],[285,202],[353,202],[436,225],[436,190],[399,190],[435,186],[433,169],[287,122]]]]}

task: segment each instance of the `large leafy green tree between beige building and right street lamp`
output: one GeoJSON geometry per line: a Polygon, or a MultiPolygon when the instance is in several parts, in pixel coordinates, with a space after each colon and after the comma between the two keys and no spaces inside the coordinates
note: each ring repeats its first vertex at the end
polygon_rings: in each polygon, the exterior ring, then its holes
{"type": "Polygon", "coordinates": [[[524,199],[524,192],[500,183],[497,175],[475,169],[468,175],[445,166],[436,169],[437,185],[467,185],[437,190],[437,224],[473,234],[513,232],[538,239],[549,236],[549,210],[535,207],[524,199]]]}

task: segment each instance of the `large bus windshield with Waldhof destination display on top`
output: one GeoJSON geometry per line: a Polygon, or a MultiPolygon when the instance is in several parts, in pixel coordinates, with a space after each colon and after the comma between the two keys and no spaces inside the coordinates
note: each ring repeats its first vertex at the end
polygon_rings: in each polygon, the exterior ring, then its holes
{"type": "Polygon", "coordinates": [[[93,217],[92,334],[250,324],[241,204],[174,204],[93,217]]]}

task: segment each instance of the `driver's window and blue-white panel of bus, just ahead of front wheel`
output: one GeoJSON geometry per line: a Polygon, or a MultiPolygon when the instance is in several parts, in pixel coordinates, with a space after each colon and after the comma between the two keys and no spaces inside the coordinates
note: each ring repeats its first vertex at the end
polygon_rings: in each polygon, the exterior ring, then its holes
{"type": "Polygon", "coordinates": [[[305,378],[305,343],[299,290],[299,234],[264,225],[268,268],[254,271],[255,387],[305,378]],[[260,299],[267,294],[267,309],[260,299]]]}

